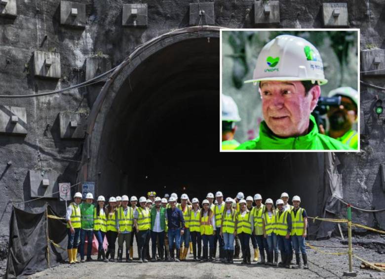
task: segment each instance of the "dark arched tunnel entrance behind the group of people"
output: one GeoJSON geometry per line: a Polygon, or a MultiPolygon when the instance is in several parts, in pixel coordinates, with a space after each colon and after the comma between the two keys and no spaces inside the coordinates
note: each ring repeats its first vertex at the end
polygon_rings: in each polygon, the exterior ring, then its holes
{"type": "Polygon", "coordinates": [[[220,190],[275,200],[288,192],[311,215],[323,209],[324,154],[219,153],[217,27],[155,40],[114,75],[91,112],[83,153],[82,179],[96,182],[97,195],[202,201],[220,190]]]}

